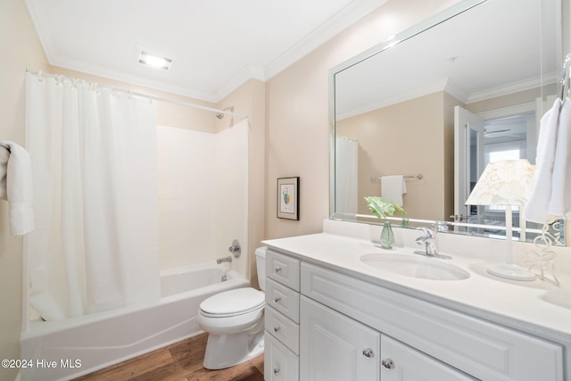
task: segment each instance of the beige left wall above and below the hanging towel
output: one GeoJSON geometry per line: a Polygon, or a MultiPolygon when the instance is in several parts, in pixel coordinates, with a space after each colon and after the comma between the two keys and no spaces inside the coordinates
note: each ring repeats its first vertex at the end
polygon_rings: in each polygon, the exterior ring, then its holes
{"type": "MultiPolygon", "coordinates": [[[[26,67],[47,69],[46,56],[21,0],[0,2],[0,140],[24,145],[24,73],[26,67]]],[[[0,201],[0,358],[20,358],[21,237],[10,235],[8,204],[0,201]]],[[[17,369],[0,368],[11,380],[17,369]]]]}

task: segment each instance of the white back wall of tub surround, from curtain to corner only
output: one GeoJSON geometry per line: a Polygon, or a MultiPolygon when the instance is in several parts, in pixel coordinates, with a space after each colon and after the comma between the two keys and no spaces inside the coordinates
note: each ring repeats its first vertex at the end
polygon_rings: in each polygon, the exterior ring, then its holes
{"type": "Polygon", "coordinates": [[[212,259],[216,135],[157,128],[161,269],[212,259]]]}

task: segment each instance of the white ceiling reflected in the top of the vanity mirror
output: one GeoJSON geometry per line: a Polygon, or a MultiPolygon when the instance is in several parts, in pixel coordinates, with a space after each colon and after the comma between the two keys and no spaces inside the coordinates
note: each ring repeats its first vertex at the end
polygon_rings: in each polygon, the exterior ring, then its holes
{"type": "Polygon", "coordinates": [[[562,62],[558,4],[489,0],[412,38],[403,32],[399,44],[335,75],[335,118],[442,90],[470,104],[555,83],[562,62]]]}

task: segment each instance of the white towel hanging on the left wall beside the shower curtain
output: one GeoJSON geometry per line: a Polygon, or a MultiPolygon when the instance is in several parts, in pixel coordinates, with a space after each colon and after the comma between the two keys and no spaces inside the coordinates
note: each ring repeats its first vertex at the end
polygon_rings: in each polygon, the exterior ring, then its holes
{"type": "Polygon", "coordinates": [[[5,172],[0,178],[0,186],[4,186],[0,195],[5,195],[3,198],[8,201],[12,235],[22,236],[34,229],[32,164],[29,153],[20,145],[9,141],[0,144],[10,148],[7,161],[0,159],[0,176],[5,172]]]}

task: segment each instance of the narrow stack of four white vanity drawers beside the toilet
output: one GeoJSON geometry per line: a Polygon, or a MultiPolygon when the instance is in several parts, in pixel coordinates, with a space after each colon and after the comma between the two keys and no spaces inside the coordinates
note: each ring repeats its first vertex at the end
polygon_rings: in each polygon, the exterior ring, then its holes
{"type": "Polygon", "coordinates": [[[266,252],[264,379],[299,379],[300,260],[266,252]]]}

